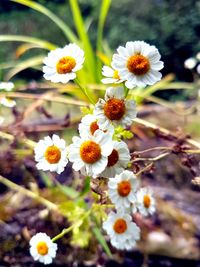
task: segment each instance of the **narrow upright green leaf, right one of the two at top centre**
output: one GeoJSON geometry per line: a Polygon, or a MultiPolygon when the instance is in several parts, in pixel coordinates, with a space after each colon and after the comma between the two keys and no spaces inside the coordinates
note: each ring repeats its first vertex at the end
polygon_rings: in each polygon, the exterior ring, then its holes
{"type": "MultiPolygon", "coordinates": [[[[98,23],[98,29],[97,29],[97,55],[100,55],[102,53],[102,39],[103,39],[103,28],[105,24],[105,20],[108,14],[108,10],[110,8],[111,0],[102,0],[101,4],[101,11],[99,15],[99,23],[98,23]]],[[[98,79],[100,81],[101,79],[101,68],[102,63],[100,61],[100,58],[97,59],[97,73],[98,73],[98,79]]]]}

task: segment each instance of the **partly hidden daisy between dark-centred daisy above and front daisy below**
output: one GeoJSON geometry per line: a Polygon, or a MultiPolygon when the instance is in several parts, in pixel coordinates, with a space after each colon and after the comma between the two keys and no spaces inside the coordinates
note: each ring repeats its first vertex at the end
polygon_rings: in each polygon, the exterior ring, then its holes
{"type": "MultiPolygon", "coordinates": [[[[86,116],[84,116],[81,120],[81,123],[79,124],[79,134],[81,137],[87,137],[87,136],[91,136],[94,135],[96,130],[102,130],[99,127],[98,121],[96,119],[96,117],[92,114],[88,114],[86,116]]],[[[113,136],[114,134],[114,127],[110,124],[108,126],[108,128],[106,129],[106,131],[104,131],[108,134],[110,134],[111,136],[113,136]]]]}

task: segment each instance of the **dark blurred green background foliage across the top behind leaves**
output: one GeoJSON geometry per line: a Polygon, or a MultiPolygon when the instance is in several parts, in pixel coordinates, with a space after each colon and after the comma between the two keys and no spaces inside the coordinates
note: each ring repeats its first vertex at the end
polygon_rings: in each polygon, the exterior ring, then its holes
{"type": "MultiPolygon", "coordinates": [[[[1,2],[1,34],[29,35],[59,46],[66,44],[62,32],[47,17],[8,0],[1,2]]],[[[74,29],[68,1],[37,2],[45,5],[74,29]]],[[[94,45],[101,1],[79,0],[79,3],[94,45]]],[[[184,69],[183,62],[200,51],[199,36],[200,1],[113,0],[106,20],[104,45],[112,51],[128,40],[145,40],[160,50],[165,62],[163,74],[173,72],[179,80],[192,81],[192,75],[184,69]]],[[[12,42],[0,46],[0,58],[3,62],[13,59],[17,46],[17,43],[12,42]]],[[[33,49],[27,54],[30,55],[29,53],[36,55],[39,52],[33,49]]],[[[26,56],[25,54],[23,57],[26,56]]]]}

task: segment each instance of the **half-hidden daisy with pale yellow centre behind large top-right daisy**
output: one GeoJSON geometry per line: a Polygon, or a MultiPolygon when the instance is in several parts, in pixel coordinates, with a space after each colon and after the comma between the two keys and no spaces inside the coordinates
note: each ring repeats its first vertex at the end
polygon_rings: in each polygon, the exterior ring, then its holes
{"type": "Polygon", "coordinates": [[[110,83],[118,84],[118,83],[122,83],[123,82],[123,80],[120,79],[120,77],[119,77],[118,71],[114,70],[111,67],[103,66],[102,74],[103,74],[103,76],[106,77],[106,78],[103,78],[101,80],[102,83],[104,83],[104,84],[110,84],[110,83]]]}

